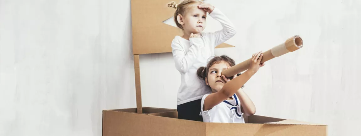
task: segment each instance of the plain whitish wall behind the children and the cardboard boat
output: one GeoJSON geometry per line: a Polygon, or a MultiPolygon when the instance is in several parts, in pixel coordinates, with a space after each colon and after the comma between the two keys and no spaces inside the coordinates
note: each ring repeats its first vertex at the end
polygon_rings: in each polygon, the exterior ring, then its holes
{"type": "MultiPolygon", "coordinates": [[[[226,42],[236,47],[216,55],[240,63],[293,35],[304,40],[246,83],[256,114],[358,135],[361,1],[207,2],[238,32],[226,42]]],[[[221,28],[208,18],[205,31],[221,28]]],[[[0,0],[0,135],[101,136],[102,110],[135,107],[131,35],[130,0],[0,0]]],[[[140,72],[143,106],[175,109],[172,54],[140,55],[140,72]]]]}

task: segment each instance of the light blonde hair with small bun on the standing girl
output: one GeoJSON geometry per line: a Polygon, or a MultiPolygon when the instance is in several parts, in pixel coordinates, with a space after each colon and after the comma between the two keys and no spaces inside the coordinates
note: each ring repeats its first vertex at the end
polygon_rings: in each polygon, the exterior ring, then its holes
{"type": "Polygon", "coordinates": [[[178,23],[177,21],[177,16],[179,14],[181,14],[182,16],[185,15],[185,11],[186,9],[188,8],[188,6],[192,5],[192,4],[195,4],[195,3],[199,3],[199,4],[202,4],[203,2],[202,1],[199,1],[199,0],[183,0],[181,3],[179,4],[176,4],[174,1],[170,2],[168,4],[168,7],[171,7],[171,8],[175,8],[175,12],[174,12],[174,22],[175,24],[177,24],[177,27],[181,28],[182,30],[183,27],[181,24],[178,23]]]}

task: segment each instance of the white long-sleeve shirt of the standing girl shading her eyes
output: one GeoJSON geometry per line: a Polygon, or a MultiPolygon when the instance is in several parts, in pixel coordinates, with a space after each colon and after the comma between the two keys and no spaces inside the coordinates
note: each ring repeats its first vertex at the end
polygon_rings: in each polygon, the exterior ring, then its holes
{"type": "Polygon", "coordinates": [[[219,21],[223,29],[212,33],[202,32],[200,38],[190,38],[189,40],[175,36],[172,41],[175,67],[181,73],[178,105],[201,99],[205,94],[210,93],[205,82],[197,77],[197,69],[206,66],[214,56],[214,48],[217,45],[236,34],[234,25],[219,9],[214,8],[209,16],[219,21]]]}

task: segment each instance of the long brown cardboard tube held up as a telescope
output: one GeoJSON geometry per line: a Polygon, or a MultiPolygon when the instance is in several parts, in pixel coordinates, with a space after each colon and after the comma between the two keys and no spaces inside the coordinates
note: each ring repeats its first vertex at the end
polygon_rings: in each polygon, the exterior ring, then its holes
{"type": "MultiPolygon", "coordinates": [[[[281,56],[283,54],[293,52],[295,50],[300,49],[301,47],[303,47],[302,38],[298,35],[292,36],[292,37],[288,38],[282,44],[274,46],[272,49],[262,53],[263,57],[262,57],[261,63],[264,63],[270,59],[281,56]]],[[[232,77],[240,72],[243,72],[249,68],[250,61],[251,61],[251,58],[248,60],[245,60],[244,62],[241,62],[237,65],[234,65],[233,67],[223,71],[222,75],[225,75],[226,77],[232,77]]]]}

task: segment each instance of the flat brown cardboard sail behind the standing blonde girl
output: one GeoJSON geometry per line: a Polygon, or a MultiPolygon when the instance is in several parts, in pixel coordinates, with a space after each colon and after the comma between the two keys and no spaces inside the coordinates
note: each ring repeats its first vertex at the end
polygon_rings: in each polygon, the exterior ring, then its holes
{"type": "MultiPolygon", "coordinates": [[[[182,35],[182,30],[163,23],[174,16],[175,9],[167,6],[171,1],[131,1],[133,54],[172,52],[171,42],[175,36],[182,35]]],[[[234,46],[223,43],[216,48],[224,47],[234,46]]]]}

